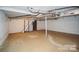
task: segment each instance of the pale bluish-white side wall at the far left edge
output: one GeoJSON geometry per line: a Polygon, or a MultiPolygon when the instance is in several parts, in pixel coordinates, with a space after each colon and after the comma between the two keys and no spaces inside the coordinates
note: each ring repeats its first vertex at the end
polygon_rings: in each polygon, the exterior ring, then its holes
{"type": "Polygon", "coordinates": [[[3,11],[0,11],[0,45],[8,36],[8,18],[3,11]]]}

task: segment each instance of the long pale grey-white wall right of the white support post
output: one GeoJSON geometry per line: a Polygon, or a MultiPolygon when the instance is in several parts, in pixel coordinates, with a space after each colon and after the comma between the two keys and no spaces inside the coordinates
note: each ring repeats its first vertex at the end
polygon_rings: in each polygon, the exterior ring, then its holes
{"type": "Polygon", "coordinates": [[[79,34],[79,16],[63,17],[48,21],[48,30],[79,34]]]}

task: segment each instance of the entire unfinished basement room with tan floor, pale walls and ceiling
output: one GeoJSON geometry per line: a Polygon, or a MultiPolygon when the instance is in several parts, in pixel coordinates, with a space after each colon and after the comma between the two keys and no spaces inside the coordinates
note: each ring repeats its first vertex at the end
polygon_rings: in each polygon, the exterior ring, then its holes
{"type": "Polygon", "coordinates": [[[78,6],[0,6],[0,52],[78,51],[78,6]]]}

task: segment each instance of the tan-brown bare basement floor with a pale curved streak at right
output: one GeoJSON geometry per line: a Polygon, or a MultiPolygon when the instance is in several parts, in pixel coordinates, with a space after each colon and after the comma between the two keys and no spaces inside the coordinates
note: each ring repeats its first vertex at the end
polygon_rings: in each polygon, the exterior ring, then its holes
{"type": "Polygon", "coordinates": [[[79,35],[71,35],[48,31],[45,38],[44,31],[10,34],[5,41],[2,51],[6,52],[55,52],[78,51],[79,35]],[[51,42],[50,42],[51,38],[51,42]],[[53,43],[52,43],[53,42],[53,43]],[[56,46],[62,45],[62,47],[56,46]],[[68,45],[76,45],[70,49],[68,45]],[[65,46],[65,47],[64,47],[65,46]],[[68,49],[67,49],[68,48],[68,49]]]}

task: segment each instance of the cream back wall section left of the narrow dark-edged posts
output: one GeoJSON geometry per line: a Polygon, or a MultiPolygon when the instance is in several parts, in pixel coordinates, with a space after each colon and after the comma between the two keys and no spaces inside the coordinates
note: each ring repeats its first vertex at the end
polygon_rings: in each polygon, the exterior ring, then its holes
{"type": "Polygon", "coordinates": [[[14,18],[9,20],[9,33],[23,32],[24,18],[14,18]]]}

